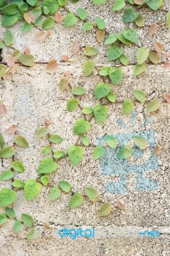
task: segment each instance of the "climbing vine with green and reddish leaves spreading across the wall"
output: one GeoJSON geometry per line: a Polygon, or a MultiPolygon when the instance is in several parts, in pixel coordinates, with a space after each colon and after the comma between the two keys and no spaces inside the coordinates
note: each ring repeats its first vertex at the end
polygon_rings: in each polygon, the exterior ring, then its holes
{"type": "MultiPolygon", "coordinates": [[[[73,4],[77,3],[79,0],[72,0],[73,4]]],[[[93,4],[103,4],[107,0],[93,0],[93,4]]],[[[72,91],[72,98],[67,102],[68,112],[72,112],[79,108],[82,117],[79,118],[73,126],[73,134],[77,136],[77,140],[73,145],[70,145],[68,149],[65,150],[54,150],[54,144],[62,143],[64,138],[59,134],[50,134],[49,126],[51,124],[50,120],[45,120],[45,125],[38,128],[35,137],[37,140],[40,138],[47,138],[47,145],[42,148],[42,154],[46,157],[37,166],[37,177],[36,179],[28,179],[26,181],[22,179],[15,179],[15,173],[24,172],[24,164],[15,159],[15,145],[19,147],[27,148],[29,143],[20,134],[17,134],[17,129],[12,126],[8,129],[8,134],[15,134],[15,140],[12,146],[6,146],[4,143],[3,134],[0,133],[0,157],[3,161],[4,158],[11,157],[12,165],[9,170],[4,170],[0,175],[0,180],[12,180],[12,188],[3,188],[0,190],[0,207],[5,207],[5,212],[0,214],[0,225],[6,223],[8,218],[15,219],[13,224],[14,232],[18,233],[22,225],[24,224],[27,228],[34,226],[33,218],[26,213],[22,213],[21,220],[17,220],[15,216],[15,211],[13,208],[9,208],[11,204],[17,200],[17,191],[24,190],[24,198],[29,201],[33,200],[39,195],[42,186],[50,187],[50,200],[57,200],[61,193],[67,193],[70,196],[69,207],[70,209],[79,207],[84,202],[84,198],[88,198],[91,202],[99,202],[100,209],[98,210],[98,216],[107,216],[111,213],[113,208],[123,209],[124,205],[118,200],[116,206],[112,206],[109,202],[103,202],[99,199],[98,191],[96,188],[85,187],[84,194],[77,191],[72,191],[72,184],[68,180],[60,180],[58,186],[52,186],[50,184],[49,173],[55,172],[59,168],[59,162],[65,157],[70,159],[70,162],[75,166],[81,163],[84,156],[84,148],[93,148],[93,159],[97,160],[104,156],[105,148],[110,147],[113,150],[119,148],[117,157],[119,159],[128,159],[133,155],[133,148],[130,145],[123,145],[120,147],[119,141],[116,137],[109,134],[105,135],[104,145],[93,145],[87,136],[87,132],[91,129],[91,120],[95,118],[98,124],[103,124],[108,116],[109,104],[114,104],[116,102],[116,95],[112,92],[111,83],[117,85],[123,79],[123,69],[121,67],[127,65],[134,65],[134,76],[139,76],[146,70],[147,64],[162,64],[164,68],[169,67],[169,62],[163,61],[162,59],[167,59],[167,55],[163,54],[164,47],[159,42],[155,41],[153,43],[154,49],[146,49],[143,45],[138,45],[137,30],[135,27],[142,28],[143,26],[148,26],[148,33],[153,35],[157,33],[158,28],[165,24],[158,21],[157,24],[145,25],[142,15],[139,13],[141,8],[150,8],[151,10],[162,10],[167,13],[167,26],[170,28],[170,12],[162,8],[162,0],[116,0],[112,7],[113,12],[119,12],[121,9],[125,9],[123,13],[123,22],[127,24],[127,29],[120,31],[120,33],[109,33],[106,28],[106,23],[100,17],[95,17],[91,20],[88,12],[84,8],[78,8],[77,13],[70,12],[66,7],[68,1],[66,0],[11,0],[5,1],[0,0],[0,13],[2,16],[1,24],[4,28],[7,28],[3,38],[0,40],[0,49],[3,50],[4,47],[10,47],[13,49],[12,55],[8,56],[6,61],[1,61],[0,64],[0,78],[5,79],[5,74],[10,70],[15,64],[24,65],[26,67],[31,67],[35,64],[45,64],[47,72],[55,72],[58,68],[58,63],[63,61],[69,61],[68,56],[63,56],[63,60],[49,60],[35,61],[35,57],[30,54],[29,48],[25,48],[24,52],[19,51],[13,47],[15,38],[8,29],[8,27],[13,26],[18,20],[23,21],[22,33],[28,33],[31,29],[38,29],[38,34],[36,35],[36,41],[42,42],[45,38],[50,37],[51,31],[56,23],[61,23],[65,28],[70,26],[75,26],[79,20],[82,20],[82,30],[84,31],[95,31],[97,35],[97,41],[99,43],[104,43],[104,45],[110,45],[109,51],[107,52],[107,59],[109,61],[114,61],[111,66],[103,66],[98,68],[95,61],[91,60],[91,57],[98,54],[98,49],[87,45],[86,47],[81,47],[77,42],[72,44],[73,54],[78,51],[82,51],[87,60],[84,61],[82,65],[82,70],[84,76],[90,76],[94,70],[97,71],[97,76],[100,77],[101,82],[95,86],[94,98],[98,100],[95,106],[81,106],[80,97],[86,94],[86,90],[78,85],[73,87],[70,84],[69,78],[66,76],[61,78],[59,82],[59,90],[62,93],[64,90],[68,89],[72,91]],[[67,15],[63,17],[59,10],[63,8],[67,15]],[[129,28],[130,22],[133,24],[133,28],[129,28]],[[47,30],[47,31],[46,31],[47,30]],[[132,47],[137,47],[137,58],[135,63],[130,63],[128,56],[123,52],[122,45],[128,45],[132,47]],[[3,77],[3,78],[2,78],[3,77]],[[48,156],[47,156],[48,155],[48,156]]],[[[122,103],[122,114],[127,115],[132,112],[135,102],[141,102],[144,104],[148,102],[147,94],[143,90],[133,90],[134,100],[125,99],[122,103]]],[[[169,95],[164,95],[164,100],[166,102],[170,101],[169,95]]],[[[158,99],[152,99],[147,103],[146,112],[151,113],[157,111],[160,108],[160,102],[158,99]]],[[[0,113],[6,113],[6,108],[1,102],[0,113]]],[[[139,150],[145,150],[148,147],[148,142],[143,136],[134,136],[134,145],[139,150]]],[[[152,154],[160,153],[160,147],[156,146],[152,148],[152,154]]],[[[163,149],[163,148],[162,148],[163,149]]],[[[3,163],[3,162],[2,162],[3,163]]],[[[33,229],[27,234],[28,239],[34,239],[33,229]]]]}

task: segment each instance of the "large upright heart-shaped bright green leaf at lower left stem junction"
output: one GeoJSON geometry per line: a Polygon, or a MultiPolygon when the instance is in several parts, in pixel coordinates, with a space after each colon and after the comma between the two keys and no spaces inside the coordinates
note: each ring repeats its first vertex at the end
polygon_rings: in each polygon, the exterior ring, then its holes
{"type": "Polygon", "coordinates": [[[27,201],[32,200],[40,193],[42,185],[39,182],[36,182],[35,179],[27,180],[24,186],[24,196],[27,201]]]}

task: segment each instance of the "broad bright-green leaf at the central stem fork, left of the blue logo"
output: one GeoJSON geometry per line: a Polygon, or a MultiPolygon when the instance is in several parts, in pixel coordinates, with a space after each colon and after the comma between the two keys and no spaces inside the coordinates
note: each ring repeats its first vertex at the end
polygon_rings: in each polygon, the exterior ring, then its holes
{"type": "Polygon", "coordinates": [[[73,165],[79,164],[83,158],[83,149],[80,146],[72,145],[68,148],[68,157],[73,165]]]}

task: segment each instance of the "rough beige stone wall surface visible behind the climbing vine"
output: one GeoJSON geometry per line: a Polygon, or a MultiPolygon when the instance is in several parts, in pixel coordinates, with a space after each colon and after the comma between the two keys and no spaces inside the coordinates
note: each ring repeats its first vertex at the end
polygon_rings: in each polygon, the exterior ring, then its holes
{"type": "MultiPolygon", "coordinates": [[[[164,8],[169,8],[169,1],[164,1],[164,8]]],[[[123,12],[112,13],[112,1],[108,1],[102,6],[94,6],[91,1],[83,1],[83,3],[68,4],[68,9],[76,12],[79,6],[87,8],[89,17],[93,20],[95,17],[102,17],[107,23],[107,30],[114,33],[123,31],[127,25],[122,22],[123,12]],[[93,6],[93,8],[92,8],[93,6]]],[[[61,12],[63,16],[65,11],[61,12]]],[[[165,20],[165,12],[151,12],[147,8],[141,10],[146,24],[162,22],[165,20]]],[[[52,58],[61,60],[61,55],[70,56],[70,62],[59,64],[58,70],[53,74],[45,71],[45,65],[35,65],[31,68],[15,65],[12,70],[4,76],[0,81],[0,95],[4,105],[8,109],[8,113],[1,116],[0,131],[3,132],[8,145],[12,145],[13,136],[5,135],[6,129],[10,125],[17,125],[19,134],[22,134],[29,141],[29,148],[22,149],[16,146],[15,159],[23,161],[26,171],[17,173],[16,178],[27,180],[31,177],[37,177],[37,167],[40,160],[43,159],[42,147],[47,145],[47,139],[35,139],[35,132],[38,127],[44,125],[45,118],[50,118],[52,124],[49,126],[50,133],[58,133],[65,140],[63,143],[55,146],[56,149],[66,150],[69,145],[75,143],[76,136],[73,135],[73,125],[77,118],[82,117],[81,109],[77,108],[72,113],[66,110],[66,102],[72,97],[71,90],[68,88],[65,92],[59,92],[58,84],[63,77],[63,72],[71,72],[70,84],[72,86],[82,85],[86,88],[86,95],[79,97],[81,106],[94,106],[98,100],[93,99],[93,90],[95,85],[101,81],[97,76],[97,71],[93,72],[90,77],[85,77],[82,73],[82,63],[86,60],[86,56],[79,51],[73,55],[71,51],[72,42],[79,42],[82,47],[93,45],[100,51],[94,60],[98,67],[101,65],[111,65],[107,61],[108,46],[97,43],[95,30],[89,32],[81,31],[81,22],[73,28],[65,29],[61,24],[56,24],[52,29],[52,35],[42,44],[35,42],[37,29],[33,29],[31,33],[22,35],[20,32],[22,24],[19,23],[11,29],[15,35],[14,47],[24,50],[28,46],[31,53],[35,55],[37,61],[49,61],[52,58]]],[[[133,26],[130,24],[130,27],[133,26]]],[[[1,33],[4,33],[4,28],[1,33]]],[[[144,45],[153,49],[153,42],[157,40],[164,45],[164,51],[169,51],[169,32],[167,26],[160,26],[157,35],[149,36],[148,27],[137,29],[139,45],[144,45]]],[[[130,57],[130,61],[135,61],[137,47],[124,47],[124,51],[130,57]]],[[[6,60],[9,52],[3,51],[3,58],[6,60]]],[[[144,90],[148,94],[148,100],[157,97],[163,101],[162,94],[169,93],[169,70],[164,70],[162,65],[149,65],[146,72],[139,77],[133,76],[134,66],[123,67],[123,80],[118,86],[112,85],[112,92],[116,93],[117,102],[109,104],[109,117],[104,124],[99,125],[93,118],[91,120],[91,131],[88,136],[91,143],[97,145],[98,137],[104,134],[118,134],[132,131],[131,116],[123,116],[121,113],[123,100],[129,98],[134,100],[132,95],[133,89],[144,90]],[[130,129],[120,127],[116,120],[120,118],[130,129]]],[[[145,129],[153,129],[155,131],[156,141],[158,145],[164,143],[165,150],[158,156],[159,168],[157,172],[147,171],[144,177],[152,178],[158,182],[158,190],[156,191],[139,191],[135,188],[135,173],[129,173],[127,176],[127,193],[126,194],[109,194],[105,193],[105,184],[114,182],[119,176],[103,176],[100,170],[100,162],[93,161],[93,147],[84,149],[84,159],[78,166],[72,166],[68,158],[63,159],[59,163],[58,171],[50,174],[50,183],[57,185],[61,179],[68,180],[73,191],[83,192],[84,186],[93,186],[100,193],[100,198],[104,202],[115,204],[120,199],[125,204],[125,211],[113,211],[108,217],[98,218],[97,212],[100,203],[91,204],[88,200],[84,200],[84,204],[78,209],[70,211],[68,202],[71,195],[62,194],[59,200],[54,202],[49,200],[49,188],[43,188],[40,195],[26,202],[22,191],[18,193],[17,202],[14,209],[17,212],[17,218],[20,218],[21,212],[31,214],[35,219],[35,224],[51,225],[52,227],[114,227],[114,228],[135,228],[138,232],[141,230],[159,230],[161,236],[153,237],[108,237],[103,236],[96,239],[78,238],[72,241],[70,238],[48,239],[42,236],[35,241],[25,239],[27,230],[23,228],[19,234],[14,234],[12,230],[13,221],[1,227],[1,256],[35,256],[35,255],[122,255],[122,256],[148,256],[148,255],[170,255],[170,190],[169,190],[169,105],[162,102],[160,109],[151,115],[146,114],[146,104],[135,102],[134,110],[137,111],[136,128],[151,116],[153,122],[148,124],[145,129]]],[[[148,151],[144,155],[144,161],[147,159],[148,151]]],[[[133,161],[133,159],[132,159],[133,161]]],[[[11,160],[4,159],[0,163],[0,170],[10,168],[11,160]]],[[[8,186],[11,182],[0,182],[1,188],[8,186]]],[[[3,212],[3,209],[1,209],[3,212]]]]}

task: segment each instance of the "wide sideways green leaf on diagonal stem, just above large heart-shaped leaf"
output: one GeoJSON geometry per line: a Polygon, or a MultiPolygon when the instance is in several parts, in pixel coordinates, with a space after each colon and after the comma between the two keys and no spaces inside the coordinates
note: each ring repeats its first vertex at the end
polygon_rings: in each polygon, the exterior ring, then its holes
{"type": "Polygon", "coordinates": [[[46,157],[38,166],[38,173],[51,173],[58,169],[58,164],[50,157],[46,157]]]}

